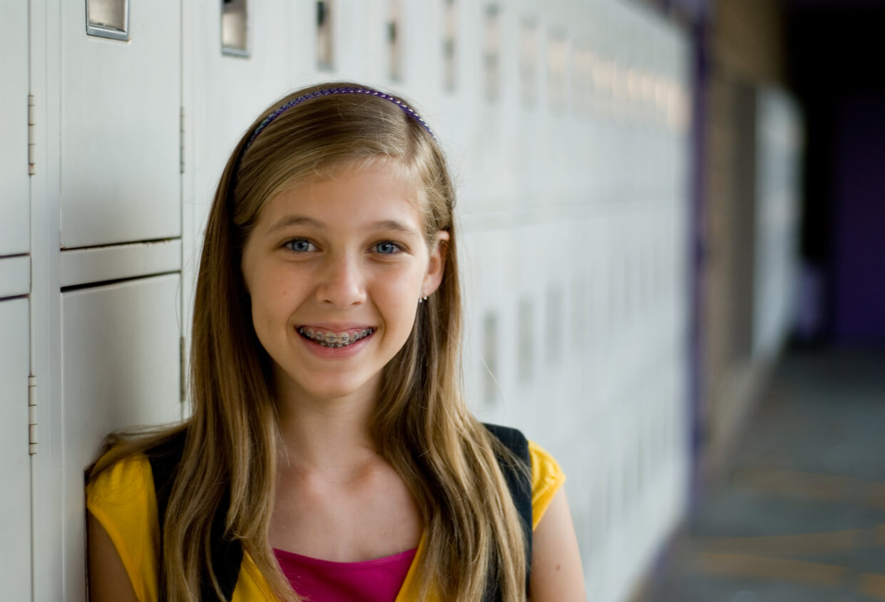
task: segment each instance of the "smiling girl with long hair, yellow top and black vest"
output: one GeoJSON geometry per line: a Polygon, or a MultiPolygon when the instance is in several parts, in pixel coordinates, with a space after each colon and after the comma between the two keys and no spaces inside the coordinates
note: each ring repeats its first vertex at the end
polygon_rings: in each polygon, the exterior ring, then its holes
{"type": "Polygon", "coordinates": [[[557,463],[458,388],[454,201],[395,96],[258,118],[206,226],[191,417],[89,470],[92,602],[584,599],[557,463]]]}

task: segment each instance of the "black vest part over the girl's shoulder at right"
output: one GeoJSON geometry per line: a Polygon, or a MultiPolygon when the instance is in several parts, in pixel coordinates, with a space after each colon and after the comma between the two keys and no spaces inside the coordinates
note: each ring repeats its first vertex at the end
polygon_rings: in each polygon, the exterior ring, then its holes
{"type": "MultiPolygon", "coordinates": [[[[519,514],[522,533],[526,539],[526,591],[528,591],[529,572],[532,567],[532,459],[528,453],[528,440],[520,431],[510,427],[485,423],[483,426],[523,464],[523,466],[513,466],[511,463],[503,461],[502,458],[497,459],[501,472],[504,473],[507,487],[510,489],[513,506],[516,507],[516,512],[519,514]]],[[[485,602],[498,600],[500,597],[500,592],[490,591],[487,593],[485,602]]]]}

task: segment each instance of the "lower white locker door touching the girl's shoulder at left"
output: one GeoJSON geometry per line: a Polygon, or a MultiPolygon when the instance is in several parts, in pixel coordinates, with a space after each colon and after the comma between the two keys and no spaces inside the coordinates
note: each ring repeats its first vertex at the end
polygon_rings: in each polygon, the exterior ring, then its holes
{"type": "Polygon", "coordinates": [[[83,469],[109,432],[181,418],[178,274],[62,293],[65,592],[84,591],[83,469]]]}

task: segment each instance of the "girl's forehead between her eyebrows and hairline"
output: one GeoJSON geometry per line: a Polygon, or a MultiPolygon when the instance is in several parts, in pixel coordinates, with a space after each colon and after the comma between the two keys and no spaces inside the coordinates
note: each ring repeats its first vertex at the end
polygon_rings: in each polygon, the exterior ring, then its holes
{"type": "Polygon", "coordinates": [[[261,209],[257,227],[275,228],[295,216],[328,225],[408,221],[420,230],[425,206],[423,187],[402,164],[343,164],[274,195],[261,209]]]}

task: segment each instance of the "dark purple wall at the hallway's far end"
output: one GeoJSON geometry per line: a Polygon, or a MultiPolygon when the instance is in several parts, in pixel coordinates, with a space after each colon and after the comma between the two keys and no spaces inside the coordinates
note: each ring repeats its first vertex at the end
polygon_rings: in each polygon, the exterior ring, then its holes
{"type": "Polygon", "coordinates": [[[885,94],[843,100],[835,153],[835,341],[885,345],[885,94]]]}

